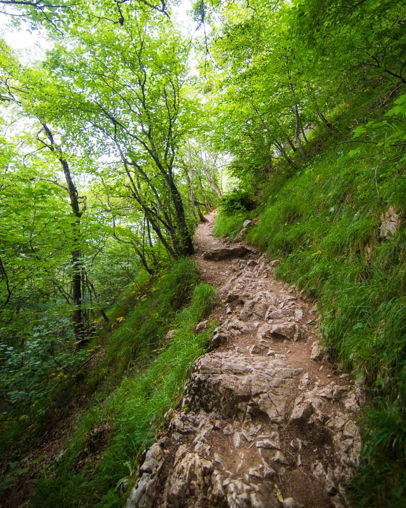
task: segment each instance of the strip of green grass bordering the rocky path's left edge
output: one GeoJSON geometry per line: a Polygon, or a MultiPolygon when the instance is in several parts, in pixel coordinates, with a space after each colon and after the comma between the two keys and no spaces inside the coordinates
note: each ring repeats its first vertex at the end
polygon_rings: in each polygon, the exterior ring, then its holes
{"type": "Polygon", "coordinates": [[[120,496],[118,487],[133,481],[138,457],[204,353],[212,328],[199,334],[193,328],[216,300],[189,259],[162,270],[148,288],[135,306],[130,290],[110,311],[104,356],[86,379],[96,390],[92,403],[63,456],[44,471],[30,506],[124,504],[126,493],[120,496]],[[165,344],[168,329],[177,333],[165,344]]]}

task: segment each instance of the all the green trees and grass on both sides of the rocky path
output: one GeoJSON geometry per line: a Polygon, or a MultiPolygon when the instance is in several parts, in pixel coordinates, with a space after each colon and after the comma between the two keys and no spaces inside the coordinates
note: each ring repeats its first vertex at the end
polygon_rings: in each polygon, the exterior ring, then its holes
{"type": "Polygon", "coordinates": [[[401,505],[404,3],[199,0],[190,35],[164,1],[0,4],[51,48],[27,64],[0,40],[1,489],[76,411],[32,504],[122,504],[205,348],[215,296],[184,257],[227,183],[216,234],[255,219],[369,390],[354,506],[401,505]]]}

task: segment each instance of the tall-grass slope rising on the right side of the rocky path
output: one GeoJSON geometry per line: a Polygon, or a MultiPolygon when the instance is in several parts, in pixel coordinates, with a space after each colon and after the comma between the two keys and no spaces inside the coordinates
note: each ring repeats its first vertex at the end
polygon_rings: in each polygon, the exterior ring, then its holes
{"type": "Polygon", "coordinates": [[[235,236],[242,220],[259,215],[249,241],[281,260],[278,276],[318,300],[330,356],[365,379],[373,400],[362,420],[354,506],[403,506],[406,228],[383,239],[379,226],[388,206],[405,210],[406,179],[404,168],[384,163],[375,145],[339,144],[351,139],[348,125],[362,113],[364,106],[352,109],[332,132],[319,130],[296,175],[268,184],[254,212],[220,213],[215,232],[235,236]],[[354,146],[360,151],[350,155],[354,146]]]}

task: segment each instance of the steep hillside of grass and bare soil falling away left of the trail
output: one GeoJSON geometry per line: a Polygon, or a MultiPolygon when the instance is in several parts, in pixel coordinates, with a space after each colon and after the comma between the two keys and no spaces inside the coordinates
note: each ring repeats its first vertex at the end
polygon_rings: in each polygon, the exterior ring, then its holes
{"type": "Polygon", "coordinates": [[[10,458],[0,504],[121,506],[134,464],[205,351],[213,326],[193,328],[215,301],[189,259],[144,277],[141,289],[131,285],[109,310],[79,380],[66,376],[45,417],[33,413],[17,435],[4,429],[10,458]]]}

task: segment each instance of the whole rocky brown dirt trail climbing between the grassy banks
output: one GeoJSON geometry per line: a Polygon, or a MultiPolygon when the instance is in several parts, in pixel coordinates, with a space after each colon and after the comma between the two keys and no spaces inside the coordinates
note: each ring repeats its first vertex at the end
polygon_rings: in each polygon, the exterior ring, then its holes
{"type": "Polygon", "coordinates": [[[216,239],[214,216],[195,246],[221,325],[144,454],[127,508],[347,506],[362,387],[319,351],[317,308],[274,277],[276,262],[216,239]]]}

